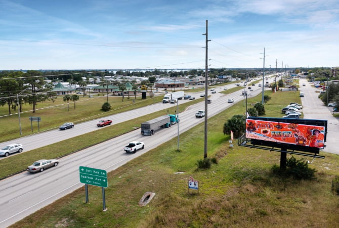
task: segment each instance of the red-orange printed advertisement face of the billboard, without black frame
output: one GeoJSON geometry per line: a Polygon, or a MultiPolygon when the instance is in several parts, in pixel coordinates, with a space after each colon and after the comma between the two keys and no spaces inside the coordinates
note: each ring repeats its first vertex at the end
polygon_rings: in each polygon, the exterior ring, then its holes
{"type": "Polygon", "coordinates": [[[246,138],[324,148],[324,126],[246,119],[246,138]]]}

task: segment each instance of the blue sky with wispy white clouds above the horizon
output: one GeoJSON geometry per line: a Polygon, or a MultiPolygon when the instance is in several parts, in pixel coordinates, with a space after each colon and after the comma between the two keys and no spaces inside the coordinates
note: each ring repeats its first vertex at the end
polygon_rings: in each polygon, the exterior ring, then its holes
{"type": "Polygon", "coordinates": [[[206,38],[208,68],[339,66],[338,0],[0,0],[0,31],[0,70],[205,69],[206,38]]]}

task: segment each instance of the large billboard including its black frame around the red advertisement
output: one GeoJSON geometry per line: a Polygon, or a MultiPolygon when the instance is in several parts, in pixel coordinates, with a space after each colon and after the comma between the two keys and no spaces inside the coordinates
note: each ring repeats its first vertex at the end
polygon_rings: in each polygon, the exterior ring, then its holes
{"type": "Polygon", "coordinates": [[[256,145],[318,153],[325,147],[327,120],[248,117],[246,138],[256,145]]]}

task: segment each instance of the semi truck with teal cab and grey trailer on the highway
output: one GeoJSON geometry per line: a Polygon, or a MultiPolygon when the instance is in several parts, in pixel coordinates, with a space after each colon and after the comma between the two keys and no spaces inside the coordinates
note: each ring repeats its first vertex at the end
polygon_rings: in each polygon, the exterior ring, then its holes
{"type": "Polygon", "coordinates": [[[160,128],[167,128],[170,127],[171,124],[175,123],[179,123],[179,118],[177,115],[160,116],[147,122],[141,123],[141,134],[152,135],[160,128]]]}

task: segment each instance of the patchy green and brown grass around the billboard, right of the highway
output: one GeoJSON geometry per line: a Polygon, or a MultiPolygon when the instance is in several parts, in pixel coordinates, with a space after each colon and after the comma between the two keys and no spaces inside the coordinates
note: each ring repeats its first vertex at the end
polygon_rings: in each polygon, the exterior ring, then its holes
{"type": "MultiPolygon", "coordinates": [[[[285,101],[300,102],[293,92],[266,93],[272,97],[267,116],[280,117],[285,101]]],[[[254,104],[261,96],[248,100],[254,104]]],[[[238,103],[208,120],[208,157],[218,158],[210,169],[195,165],[203,158],[201,123],[180,135],[179,152],[173,139],[108,173],[107,211],[102,211],[101,189],[89,186],[89,204],[80,188],[11,227],[339,226],[338,196],[331,192],[339,156],[321,152],[326,158],[312,163],[318,170],[313,180],[277,177],[271,167],[279,164],[279,153],[239,147],[236,141],[230,148],[230,136],[222,133],[223,123],[243,109],[238,103]],[[174,174],[178,171],[185,173],[174,174]],[[188,193],[190,176],[199,181],[199,194],[188,193]],[[138,206],[147,191],[155,198],[138,206]]]]}

